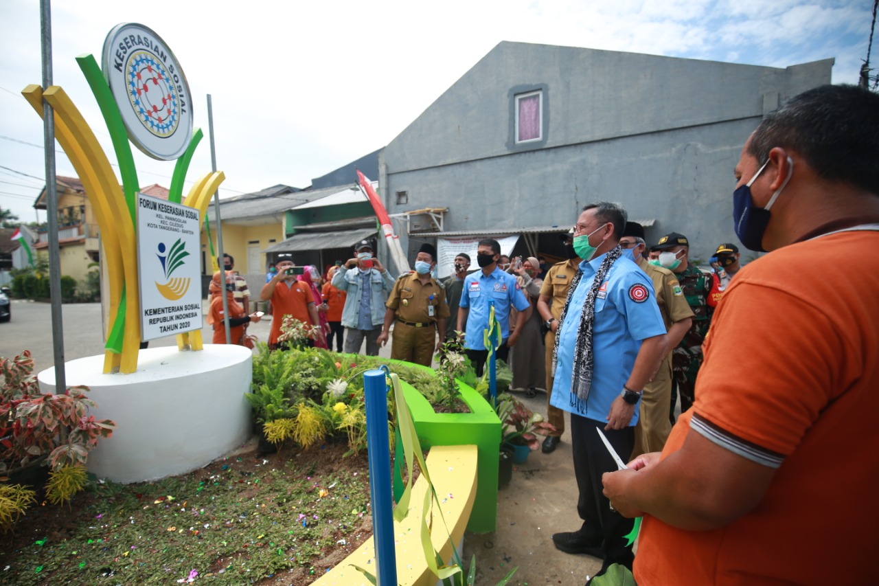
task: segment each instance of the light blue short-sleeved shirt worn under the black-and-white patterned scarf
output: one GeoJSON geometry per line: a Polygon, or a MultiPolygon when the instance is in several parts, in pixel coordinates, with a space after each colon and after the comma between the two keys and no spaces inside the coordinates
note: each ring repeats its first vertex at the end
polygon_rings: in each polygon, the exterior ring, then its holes
{"type": "MultiPolygon", "coordinates": [[[[605,255],[580,263],[583,278],[570,298],[570,308],[561,325],[556,355],[556,377],[550,403],[570,413],[594,421],[607,421],[611,403],[620,396],[622,385],[635,366],[641,341],[665,333],[665,323],[659,313],[653,283],[650,277],[626,257],[621,257],[607,271],[595,300],[595,321],[592,326],[594,370],[585,413],[578,412],[577,402],[570,392],[574,373],[574,348],[577,344],[580,316],[586,294],[592,286],[595,272],[605,255]]],[[[634,389],[640,391],[641,389],[634,389]]],[[[641,409],[629,425],[635,425],[641,409]]]]}

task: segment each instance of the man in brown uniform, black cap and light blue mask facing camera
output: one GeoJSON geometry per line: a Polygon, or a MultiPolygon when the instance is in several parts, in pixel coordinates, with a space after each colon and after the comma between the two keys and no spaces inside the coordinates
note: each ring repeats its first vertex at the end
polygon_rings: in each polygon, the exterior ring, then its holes
{"type": "Polygon", "coordinates": [[[385,303],[384,326],[378,342],[382,346],[388,342],[390,325],[396,319],[390,348],[392,359],[430,366],[434,349],[439,351],[442,347],[449,311],[446,291],[431,276],[436,255],[432,245],[422,245],[415,257],[415,271],[400,275],[385,303]]]}

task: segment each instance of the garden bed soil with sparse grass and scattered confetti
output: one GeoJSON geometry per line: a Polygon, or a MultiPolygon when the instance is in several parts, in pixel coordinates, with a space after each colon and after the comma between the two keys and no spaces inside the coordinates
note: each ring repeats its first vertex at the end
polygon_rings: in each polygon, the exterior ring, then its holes
{"type": "MultiPolygon", "coordinates": [[[[255,445],[255,443],[254,443],[255,445]]],[[[0,584],[310,584],[372,535],[367,454],[344,443],[98,483],[0,535],[0,584]]]]}

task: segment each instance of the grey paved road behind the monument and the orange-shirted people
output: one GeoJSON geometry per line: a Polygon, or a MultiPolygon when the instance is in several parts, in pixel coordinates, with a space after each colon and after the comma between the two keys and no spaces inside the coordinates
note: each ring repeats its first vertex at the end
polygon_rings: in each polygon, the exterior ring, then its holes
{"type": "MultiPolygon", "coordinates": [[[[203,304],[207,309],[207,302],[203,304]]],[[[100,304],[63,304],[62,317],[64,362],[104,354],[100,304]]],[[[266,316],[258,324],[251,324],[248,332],[256,335],[259,341],[268,341],[271,326],[272,318],[266,316]]],[[[210,343],[214,337],[211,326],[203,327],[201,336],[210,343]]],[[[149,342],[150,348],[176,344],[174,336],[149,342]]],[[[11,321],[0,323],[0,356],[11,358],[25,349],[31,351],[38,372],[54,365],[52,309],[49,304],[13,300],[11,321]]],[[[381,348],[380,354],[389,357],[390,345],[381,348]]]]}

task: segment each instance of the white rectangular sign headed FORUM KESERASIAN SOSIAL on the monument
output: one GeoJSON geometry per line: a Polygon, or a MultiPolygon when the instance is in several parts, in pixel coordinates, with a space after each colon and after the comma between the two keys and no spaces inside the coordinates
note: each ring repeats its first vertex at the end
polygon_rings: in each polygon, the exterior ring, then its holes
{"type": "Polygon", "coordinates": [[[141,337],[201,329],[199,211],[137,194],[141,337]]]}

